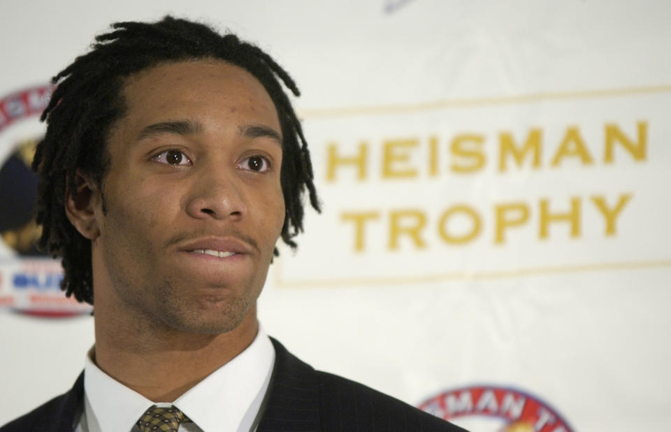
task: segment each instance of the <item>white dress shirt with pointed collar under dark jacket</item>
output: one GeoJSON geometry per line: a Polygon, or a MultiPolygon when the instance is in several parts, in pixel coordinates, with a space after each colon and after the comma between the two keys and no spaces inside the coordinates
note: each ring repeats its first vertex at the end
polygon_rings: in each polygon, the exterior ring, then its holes
{"type": "MultiPolygon", "coordinates": [[[[92,351],[93,352],[93,349],[92,351]]],[[[104,373],[87,355],[84,410],[75,432],[139,431],[136,422],[152,405],[175,405],[191,422],[180,432],[248,432],[268,390],[275,349],[259,326],[257,337],[237,357],[175,401],[154,403],[104,373]]]]}

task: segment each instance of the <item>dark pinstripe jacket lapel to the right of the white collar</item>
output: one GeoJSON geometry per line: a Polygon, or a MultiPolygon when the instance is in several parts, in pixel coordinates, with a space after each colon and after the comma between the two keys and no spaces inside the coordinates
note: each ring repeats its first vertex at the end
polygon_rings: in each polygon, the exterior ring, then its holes
{"type": "Polygon", "coordinates": [[[257,432],[320,431],[315,370],[297,359],[277,340],[275,366],[257,432]]]}

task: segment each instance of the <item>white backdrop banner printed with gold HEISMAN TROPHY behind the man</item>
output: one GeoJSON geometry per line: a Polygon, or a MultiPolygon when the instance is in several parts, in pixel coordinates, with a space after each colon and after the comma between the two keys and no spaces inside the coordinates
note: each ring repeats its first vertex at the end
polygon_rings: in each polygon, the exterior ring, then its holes
{"type": "Polygon", "coordinates": [[[474,432],[665,431],[671,4],[0,4],[0,424],[62,393],[86,305],[34,250],[48,80],[118,20],[231,29],[298,82],[321,215],[264,328],[474,432]]]}

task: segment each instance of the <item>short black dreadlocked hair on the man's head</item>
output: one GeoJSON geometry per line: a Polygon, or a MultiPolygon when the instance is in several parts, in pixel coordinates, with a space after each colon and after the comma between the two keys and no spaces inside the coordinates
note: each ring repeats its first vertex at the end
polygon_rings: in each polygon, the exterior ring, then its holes
{"type": "MultiPolygon", "coordinates": [[[[67,296],[90,304],[94,301],[91,241],[67,219],[66,194],[69,191],[76,198],[78,170],[102,190],[110,164],[106,141],[126,110],[124,84],[134,73],[160,64],[222,60],[245,69],[265,87],[282,127],[280,178],[286,215],[281,237],[296,248],[293,238],[303,231],[305,189],[312,208],[320,208],[308,143],[282,83],[295,96],[300,92],[273,58],[234,34],[221,35],[205,24],[170,16],[151,23],[117,22],[111,31],[96,36],[91,48],[52,78],[57,87],[41,117],[48,124],[47,131],[32,165],[39,176],[37,222],[43,226],[38,246],[62,257],[61,288],[67,296]]],[[[278,255],[277,248],[274,253],[278,255]]]]}

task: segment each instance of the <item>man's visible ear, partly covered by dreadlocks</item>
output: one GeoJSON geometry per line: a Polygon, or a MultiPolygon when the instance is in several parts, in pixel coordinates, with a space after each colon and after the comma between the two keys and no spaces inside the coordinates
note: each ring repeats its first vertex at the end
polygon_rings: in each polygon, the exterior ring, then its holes
{"type": "Polygon", "coordinates": [[[77,231],[89,240],[95,240],[100,236],[95,212],[100,199],[100,191],[95,182],[78,169],[75,173],[75,194],[72,194],[69,188],[66,190],[65,213],[77,231]]]}

